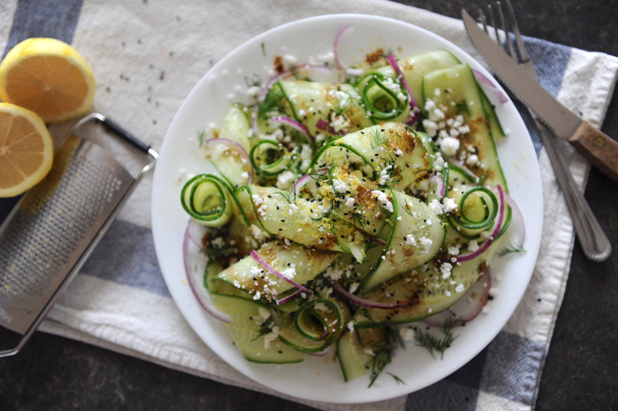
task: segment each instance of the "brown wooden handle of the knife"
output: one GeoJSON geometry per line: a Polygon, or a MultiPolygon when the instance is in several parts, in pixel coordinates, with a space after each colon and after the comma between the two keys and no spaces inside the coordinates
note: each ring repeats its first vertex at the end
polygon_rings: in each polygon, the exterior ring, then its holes
{"type": "Polygon", "coordinates": [[[597,168],[618,183],[618,142],[582,121],[569,142],[597,168]]]}

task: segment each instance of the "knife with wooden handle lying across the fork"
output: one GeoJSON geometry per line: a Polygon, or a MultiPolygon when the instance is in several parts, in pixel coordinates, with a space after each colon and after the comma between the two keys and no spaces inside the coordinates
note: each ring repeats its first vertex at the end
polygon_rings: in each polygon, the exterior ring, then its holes
{"type": "Polygon", "coordinates": [[[600,171],[618,182],[618,142],[556,100],[478,27],[470,14],[465,10],[461,14],[468,36],[497,77],[554,130],[556,136],[568,140],[600,171]]]}

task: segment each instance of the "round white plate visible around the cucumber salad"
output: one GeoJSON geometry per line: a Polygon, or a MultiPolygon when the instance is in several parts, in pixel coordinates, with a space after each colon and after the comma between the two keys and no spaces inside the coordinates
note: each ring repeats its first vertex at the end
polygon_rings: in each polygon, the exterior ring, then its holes
{"type": "MultiPolygon", "coordinates": [[[[300,364],[272,365],[247,362],[232,345],[225,326],[203,312],[186,282],[182,262],[182,238],[187,216],[180,206],[180,188],[188,175],[212,171],[197,151],[201,129],[223,119],[232,101],[247,100],[245,77],[258,74],[267,79],[275,55],[293,55],[299,63],[332,50],[332,42],[345,25],[354,31],[342,38],[343,61],[360,62],[378,47],[394,50],[400,57],[438,48],[452,51],[473,69],[491,75],[467,53],[424,29],[377,16],[331,15],[296,21],[257,36],[216,64],[190,92],[175,115],[160,150],[152,191],[152,226],[162,273],[180,311],[200,338],[234,369],[281,393],[331,403],[364,403],[405,395],[443,379],[478,354],[504,327],[528,286],[539,252],[543,225],[543,195],[539,165],[528,131],[519,113],[508,101],[496,103],[496,111],[508,138],[498,144],[510,194],[526,221],[526,253],[499,258],[493,264],[493,288],[497,297],[490,310],[457,331],[460,336],[447,349],[443,360],[408,343],[397,352],[388,374],[367,389],[368,377],[345,383],[336,360],[312,358],[300,364]],[[264,52],[266,55],[264,55],[264,52]],[[499,278],[499,279],[496,279],[499,278]]],[[[499,86],[498,86],[499,87],[499,86]]],[[[495,100],[491,92],[490,99],[495,100]]],[[[248,100],[247,100],[248,102],[248,100]]]]}

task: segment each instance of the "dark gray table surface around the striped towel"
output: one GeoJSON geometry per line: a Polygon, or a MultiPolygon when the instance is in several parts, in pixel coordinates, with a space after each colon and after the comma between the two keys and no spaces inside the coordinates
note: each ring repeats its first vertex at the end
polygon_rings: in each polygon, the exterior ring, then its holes
{"type": "MultiPolygon", "coordinates": [[[[467,1],[401,0],[459,17],[467,1]]],[[[523,34],[618,55],[618,0],[517,0],[523,34]]],[[[618,94],[602,127],[618,138],[618,94]]],[[[536,409],[618,409],[618,184],[597,170],[586,199],[613,243],[602,263],[577,244],[536,409]]],[[[436,399],[439,401],[439,399],[436,399]]],[[[162,366],[37,332],[17,356],[0,360],[0,410],[312,410],[162,366]]]]}

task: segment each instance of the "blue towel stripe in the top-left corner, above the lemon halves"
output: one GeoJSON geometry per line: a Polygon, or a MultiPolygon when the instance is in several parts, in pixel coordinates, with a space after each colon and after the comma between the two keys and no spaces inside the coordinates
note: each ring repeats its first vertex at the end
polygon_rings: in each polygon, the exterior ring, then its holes
{"type": "Polygon", "coordinates": [[[3,56],[29,37],[51,37],[71,43],[80,12],[82,0],[20,0],[3,56]]]}

